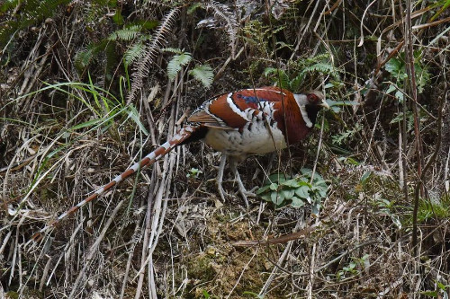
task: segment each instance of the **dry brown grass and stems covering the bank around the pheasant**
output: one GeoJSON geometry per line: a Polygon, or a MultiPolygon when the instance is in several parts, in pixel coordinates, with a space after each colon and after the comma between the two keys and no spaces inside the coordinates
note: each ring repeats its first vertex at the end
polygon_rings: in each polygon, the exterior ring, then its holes
{"type": "MultiPolygon", "coordinates": [[[[0,30],[0,297],[450,295],[450,119],[446,110],[438,113],[448,101],[444,2],[412,2],[406,30],[405,6],[395,1],[279,3],[210,1],[188,11],[190,5],[175,2],[74,2],[5,43],[0,30]],[[128,24],[175,11],[180,18],[170,18],[170,30],[161,29],[163,22],[144,31],[157,40],[144,44],[151,61],[141,61],[133,77],[141,92],[128,97],[133,69],[121,64],[139,38],[110,40],[112,48],[77,69],[80,52],[123,27],[114,13],[128,24]],[[195,28],[208,17],[214,29],[195,28]],[[211,90],[187,75],[192,66],[169,81],[170,56],[155,50],[163,43],[213,66],[211,90]],[[415,71],[427,68],[428,79],[412,83],[386,69],[409,47],[421,55],[415,71]],[[220,203],[210,180],[219,156],[197,144],[177,148],[31,242],[58,214],[173,135],[187,109],[218,92],[271,84],[263,75],[269,66],[292,79],[307,58],[322,54],[338,76],[311,71],[300,86],[333,83],[330,99],[357,105],[323,113],[322,130],[276,159],[249,158],[240,167],[248,187],[261,186],[269,170],[315,169],[330,182],[320,215],[310,207],[275,210],[258,198],[246,209],[232,181],[225,184],[229,201],[220,203]],[[415,85],[423,91],[416,94],[415,85]],[[202,173],[186,178],[193,167],[202,173]]],[[[13,26],[13,11],[0,14],[4,24],[13,26]]],[[[410,72],[412,59],[405,57],[401,72],[410,72]]]]}

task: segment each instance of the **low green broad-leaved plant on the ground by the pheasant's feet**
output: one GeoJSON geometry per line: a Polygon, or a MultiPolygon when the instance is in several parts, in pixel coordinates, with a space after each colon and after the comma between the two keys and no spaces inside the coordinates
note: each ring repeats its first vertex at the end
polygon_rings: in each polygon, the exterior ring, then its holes
{"type": "Polygon", "coordinates": [[[321,201],[327,197],[329,184],[320,176],[314,173],[311,180],[312,171],[307,168],[302,169],[302,174],[290,177],[282,173],[275,173],[269,176],[266,186],[257,190],[257,194],[268,202],[272,202],[275,207],[303,207],[310,204],[313,214],[319,214],[321,201]]]}

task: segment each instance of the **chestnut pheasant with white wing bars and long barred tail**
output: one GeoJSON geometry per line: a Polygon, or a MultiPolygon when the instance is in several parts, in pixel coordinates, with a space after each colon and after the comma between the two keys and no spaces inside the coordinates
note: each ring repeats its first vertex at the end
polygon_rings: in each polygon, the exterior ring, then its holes
{"type": "Polygon", "coordinates": [[[140,168],[155,163],[175,146],[197,140],[202,140],[221,152],[217,176],[220,198],[225,198],[222,178],[229,157],[230,169],[235,174],[239,193],[247,204],[247,190],[240,180],[237,164],[248,155],[267,154],[298,143],[311,132],[317,114],[323,107],[329,108],[329,105],[324,95],[318,91],[294,94],[279,87],[261,87],[220,94],[194,110],[187,119],[188,124],[166,143],[97,189],[90,197],[59,215],[55,221],[41,229],[40,233],[51,229],[67,215],[75,213],[140,168]]]}

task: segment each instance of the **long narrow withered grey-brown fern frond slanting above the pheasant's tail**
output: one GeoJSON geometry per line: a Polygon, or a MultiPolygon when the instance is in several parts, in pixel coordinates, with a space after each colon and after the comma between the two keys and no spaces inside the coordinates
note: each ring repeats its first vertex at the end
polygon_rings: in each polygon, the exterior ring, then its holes
{"type": "Polygon", "coordinates": [[[142,53],[142,59],[139,60],[139,63],[136,66],[136,71],[132,75],[133,85],[128,96],[129,102],[134,100],[139,89],[142,87],[142,81],[144,80],[144,77],[148,75],[149,66],[157,57],[157,51],[161,48],[163,42],[165,41],[165,37],[172,28],[179,12],[180,9],[178,7],[174,7],[164,16],[163,21],[157,27],[156,33],[145,47],[145,50],[142,53]]]}

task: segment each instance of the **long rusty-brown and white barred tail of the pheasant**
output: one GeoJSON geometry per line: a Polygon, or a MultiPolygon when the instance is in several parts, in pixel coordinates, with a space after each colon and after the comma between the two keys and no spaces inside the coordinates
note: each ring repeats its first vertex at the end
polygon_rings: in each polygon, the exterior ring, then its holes
{"type": "Polygon", "coordinates": [[[32,236],[32,240],[39,242],[42,239],[43,234],[48,233],[49,231],[54,229],[57,226],[57,224],[61,222],[64,218],[66,218],[68,215],[74,214],[80,207],[84,207],[88,202],[93,201],[94,199],[100,197],[104,192],[108,191],[109,189],[112,189],[113,186],[120,183],[122,180],[125,180],[131,174],[138,171],[139,169],[142,169],[148,165],[155,163],[157,159],[161,158],[162,156],[170,152],[172,149],[175,148],[176,145],[181,145],[198,128],[199,127],[193,126],[186,126],[182,128],[180,131],[178,131],[177,134],[175,134],[175,136],[172,136],[172,138],[167,140],[165,144],[160,145],[159,147],[157,147],[156,150],[146,155],[138,163],[135,163],[129,169],[123,171],[121,174],[115,177],[114,180],[111,180],[106,185],[103,185],[103,187],[95,190],[95,192],[90,197],[85,198],[83,201],[80,201],[76,206],[71,207],[65,213],[59,215],[56,220],[54,220],[50,224],[47,224],[44,228],[42,228],[39,231],[39,233],[35,233],[32,236]]]}

